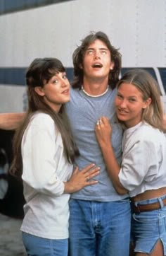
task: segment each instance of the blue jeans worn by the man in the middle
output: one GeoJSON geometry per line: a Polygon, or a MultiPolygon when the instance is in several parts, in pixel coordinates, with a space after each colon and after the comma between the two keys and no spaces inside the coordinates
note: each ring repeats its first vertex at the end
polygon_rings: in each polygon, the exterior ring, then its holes
{"type": "Polygon", "coordinates": [[[70,256],[128,256],[129,199],[91,202],[70,199],[70,256]]]}

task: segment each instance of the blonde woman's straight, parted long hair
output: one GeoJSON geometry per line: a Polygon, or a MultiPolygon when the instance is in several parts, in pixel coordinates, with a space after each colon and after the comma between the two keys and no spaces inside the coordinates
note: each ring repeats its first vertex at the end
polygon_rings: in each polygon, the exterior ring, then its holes
{"type": "Polygon", "coordinates": [[[163,106],[159,86],[155,78],[145,69],[132,69],[122,76],[117,83],[117,89],[121,83],[134,85],[141,92],[143,100],[151,98],[151,104],[143,109],[142,120],[162,131],[163,106]]]}

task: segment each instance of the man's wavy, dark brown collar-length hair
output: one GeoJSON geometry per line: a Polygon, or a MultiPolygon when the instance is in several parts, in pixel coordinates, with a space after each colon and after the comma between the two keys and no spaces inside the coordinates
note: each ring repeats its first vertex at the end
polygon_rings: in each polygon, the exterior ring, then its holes
{"type": "Polygon", "coordinates": [[[98,31],[96,33],[91,32],[89,35],[87,35],[87,37],[82,40],[82,44],[77,47],[72,54],[72,62],[74,66],[74,78],[72,81],[72,88],[81,89],[84,77],[84,70],[81,68],[81,66],[83,64],[84,54],[89,45],[91,45],[91,43],[93,43],[95,40],[101,40],[103,43],[106,44],[108,50],[110,51],[111,62],[114,63],[114,68],[113,70],[110,70],[109,73],[108,85],[111,89],[113,89],[115,88],[117,81],[119,81],[120,69],[122,65],[122,56],[119,50],[110,44],[110,40],[105,33],[101,31],[98,31]]]}

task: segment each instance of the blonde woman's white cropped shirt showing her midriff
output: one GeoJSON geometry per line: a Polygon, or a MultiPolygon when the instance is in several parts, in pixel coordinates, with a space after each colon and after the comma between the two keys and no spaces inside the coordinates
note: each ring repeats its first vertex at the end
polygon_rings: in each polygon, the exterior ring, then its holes
{"type": "Polygon", "coordinates": [[[125,130],[119,179],[130,197],[166,187],[166,137],[140,122],[125,130]]]}

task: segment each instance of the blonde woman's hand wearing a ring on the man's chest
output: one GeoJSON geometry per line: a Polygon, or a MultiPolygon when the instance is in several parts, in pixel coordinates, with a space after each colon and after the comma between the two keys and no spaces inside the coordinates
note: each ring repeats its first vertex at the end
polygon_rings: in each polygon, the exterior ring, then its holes
{"type": "Polygon", "coordinates": [[[110,136],[112,134],[112,128],[107,117],[101,117],[95,127],[96,138],[98,144],[102,147],[110,143],[110,136]]]}

